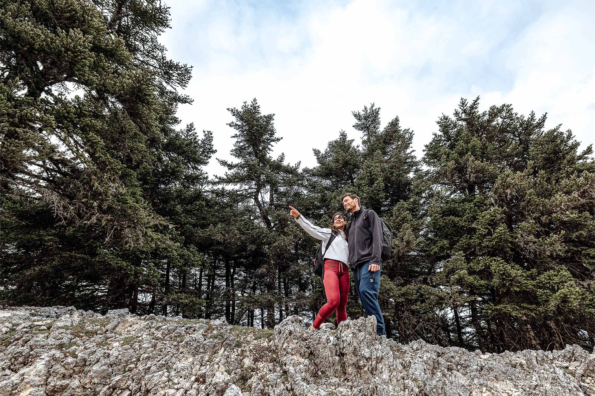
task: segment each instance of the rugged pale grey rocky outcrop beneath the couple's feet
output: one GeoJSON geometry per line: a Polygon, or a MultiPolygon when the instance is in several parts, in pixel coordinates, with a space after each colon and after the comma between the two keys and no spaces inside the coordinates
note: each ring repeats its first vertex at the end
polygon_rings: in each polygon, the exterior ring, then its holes
{"type": "Polygon", "coordinates": [[[595,355],[482,354],[375,335],[375,318],[309,332],[224,321],[0,311],[0,396],[8,395],[595,395],[595,355]]]}

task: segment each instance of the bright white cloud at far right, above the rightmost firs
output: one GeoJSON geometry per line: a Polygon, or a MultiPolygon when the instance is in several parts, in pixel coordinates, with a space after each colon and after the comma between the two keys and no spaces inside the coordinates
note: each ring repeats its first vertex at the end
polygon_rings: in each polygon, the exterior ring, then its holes
{"type": "Polygon", "coordinates": [[[572,129],[582,148],[593,144],[592,11],[593,7],[569,7],[544,13],[507,51],[506,65],[515,74],[512,90],[487,93],[484,103],[512,103],[523,114],[547,112],[546,128],[562,123],[562,129],[572,129]]]}

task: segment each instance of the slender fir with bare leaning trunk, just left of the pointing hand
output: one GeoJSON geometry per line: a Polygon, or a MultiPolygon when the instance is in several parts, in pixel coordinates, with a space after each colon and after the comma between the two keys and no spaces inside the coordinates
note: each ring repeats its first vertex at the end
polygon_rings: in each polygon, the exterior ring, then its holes
{"type": "MultiPolygon", "coordinates": [[[[300,183],[299,163],[284,163],[284,155],[276,159],[271,156],[273,145],[280,141],[273,125],[273,114],[263,115],[256,99],[245,102],[240,109],[228,109],[234,121],[228,123],[236,129],[236,139],[231,154],[237,162],[219,160],[228,171],[217,179],[223,185],[231,185],[230,195],[238,202],[255,205],[258,218],[267,233],[264,243],[267,256],[261,263],[259,273],[264,275],[266,294],[264,308],[267,309],[267,327],[276,322],[275,303],[280,304],[278,277],[281,265],[292,256],[293,239],[287,236],[289,223],[287,203],[293,201],[300,183]]],[[[293,257],[292,257],[293,258],[293,257]]]]}

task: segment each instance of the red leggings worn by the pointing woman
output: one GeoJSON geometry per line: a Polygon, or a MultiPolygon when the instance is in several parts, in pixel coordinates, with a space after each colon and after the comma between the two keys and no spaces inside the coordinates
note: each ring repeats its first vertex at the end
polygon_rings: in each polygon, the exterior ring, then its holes
{"type": "Polygon", "coordinates": [[[317,329],[328,316],[337,310],[337,325],[347,319],[347,296],[349,296],[349,271],[347,264],[337,260],[324,260],[324,292],[327,294],[327,303],[322,306],[314,324],[317,329]]]}

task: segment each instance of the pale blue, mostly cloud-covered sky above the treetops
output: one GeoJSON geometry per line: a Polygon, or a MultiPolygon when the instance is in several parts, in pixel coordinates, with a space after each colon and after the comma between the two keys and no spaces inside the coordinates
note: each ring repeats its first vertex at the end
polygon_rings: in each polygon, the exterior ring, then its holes
{"type": "Polygon", "coordinates": [[[283,137],[273,154],[316,165],[342,129],[356,143],[352,111],[380,107],[384,127],[399,116],[414,150],[459,100],[481,109],[512,104],[547,113],[546,128],[595,141],[595,1],[225,1],[169,0],[161,37],[168,56],[193,66],[182,125],[214,134],[216,158],[232,159],[228,107],[258,100],[283,137]]]}

